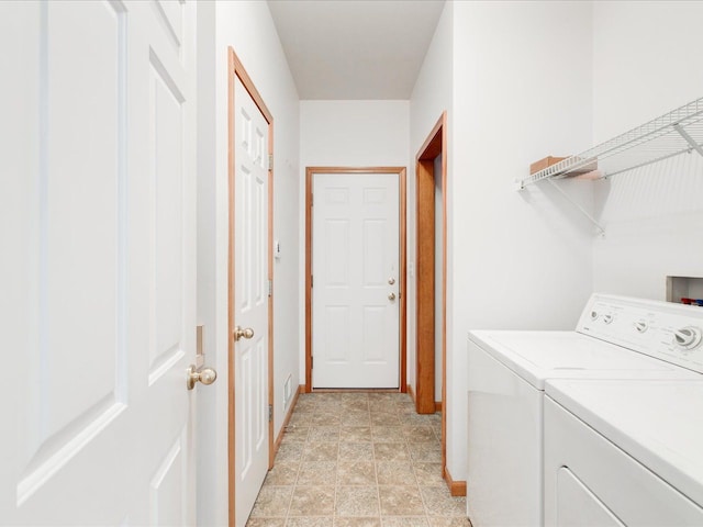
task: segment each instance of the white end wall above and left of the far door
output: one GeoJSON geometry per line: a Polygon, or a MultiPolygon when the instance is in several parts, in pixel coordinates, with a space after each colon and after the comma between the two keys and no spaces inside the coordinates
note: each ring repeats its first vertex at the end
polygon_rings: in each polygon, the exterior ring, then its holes
{"type": "MultiPolygon", "coordinates": [[[[408,101],[300,101],[301,269],[304,269],[305,167],[408,167],[409,134],[408,101]]],[[[305,299],[302,271],[300,276],[302,328],[305,299]]],[[[300,339],[299,360],[304,383],[304,335],[300,339]]]]}

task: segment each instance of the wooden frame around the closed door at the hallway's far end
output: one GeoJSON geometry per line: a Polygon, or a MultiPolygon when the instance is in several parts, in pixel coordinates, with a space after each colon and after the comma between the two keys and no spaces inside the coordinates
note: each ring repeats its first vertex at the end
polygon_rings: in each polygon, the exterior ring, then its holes
{"type": "Polygon", "coordinates": [[[399,316],[399,347],[400,347],[400,378],[398,391],[405,393],[406,386],[406,261],[408,255],[405,249],[406,238],[406,212],[405,203],[406,181],[405,167],[305,167],[305,393],[312,392],[312,178],[315,173],[397,173],[398,175],[398,193],[400,200],[400,218],[399,218],[399,279],[400,279],[400,316],[399,316]]]}

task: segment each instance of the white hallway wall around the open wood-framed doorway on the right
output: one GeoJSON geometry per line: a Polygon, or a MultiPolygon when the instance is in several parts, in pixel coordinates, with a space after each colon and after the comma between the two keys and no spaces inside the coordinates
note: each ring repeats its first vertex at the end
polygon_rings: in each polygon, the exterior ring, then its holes
{"type": "MultiPolygon", "coordinates": [[[[410,99],[410,160],[408,171],[408,383],[415,385],[415,363],[416,363],[416,288],[415,280],[415,257],[416,244],[416,214],[415,214],[415,156],[427,138],[429,132],[442,116],[442,112],[448,113],[448,135],[450,135],[454,115],[451,112],[453,93],[453,13],[454,4],[447,2],[442,12],[437,27],[433,36],[427,54],[423,61],[422,69],[415,81],[410,99]]],[[[451,159],[448,160],[448,184],[451,186],[451,159]]],[[[447,247],[451,254],[451,247],[447,247]]],[[[448,262],[448,277],[451,276],[451,261],[448,262]]],[[[447,289],[450,289],[451,281],[447,289]]],[[[451,292],[447,291],[447,310],[450,310],[451,292]]],[[[447,321],[447,324],[449,321],[447,321]]],[[[435,396],[439,401],[442,397],[442,384],[439,370],[440,362],[435,363],[436,382],[435,396]],[[439,396],[437,397],[437,393],[439,396]]]]}

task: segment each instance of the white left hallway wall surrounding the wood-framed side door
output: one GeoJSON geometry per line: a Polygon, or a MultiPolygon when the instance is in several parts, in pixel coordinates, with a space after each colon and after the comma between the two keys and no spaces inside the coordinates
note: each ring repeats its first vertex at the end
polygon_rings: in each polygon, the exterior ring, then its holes
{"type": "MultiPolygon", "coordinates": [[[[209,22],[199,27],[203,54],[214,63],[199,68],[201,100],[199,131],[199,322],[205,324],[209,366],[219,379],[208,399],[214,418],[204,417],[214,439],[199,450],[199,524],[227,524],[227,46],[232,46],[260,92],[275,123],[274,236],[281,242],[282,257],[274,268],[274,382],[275,434],[280,431],[283,382],[299,381],[299,105],[298,93],[266,2],[199,2],[199,14],[209,22]],[[202,4],[202,8],[200,7],[202,4]],[[214,10],[214,12],[213,12],[214,10]],[[214,38],[208,32],[214,31],[214,38]],[[214,421],[214,423],[212,423],[214,421]],[[212,450],[210,450],[212,449],[212,450]],[[212,495],[205,495],[212,492],[212,495]],[[212,506],[211,511],[204,511],[212,506]]],[[[204,390],[202,391],[204,393],[204,390]]],[[[199,436],[205,434],[199,430],[199,436]]]]}

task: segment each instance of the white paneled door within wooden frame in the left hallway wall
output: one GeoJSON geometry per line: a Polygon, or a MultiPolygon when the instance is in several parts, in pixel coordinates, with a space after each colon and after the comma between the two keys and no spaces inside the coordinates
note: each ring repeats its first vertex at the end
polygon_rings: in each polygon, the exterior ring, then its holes
{"type": "Polygon", "coordinates": [[[235,514],[246,524],[268,471],[268,123],[234,81],[235,514]]]}

